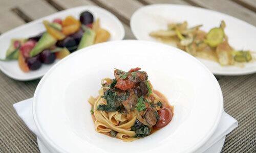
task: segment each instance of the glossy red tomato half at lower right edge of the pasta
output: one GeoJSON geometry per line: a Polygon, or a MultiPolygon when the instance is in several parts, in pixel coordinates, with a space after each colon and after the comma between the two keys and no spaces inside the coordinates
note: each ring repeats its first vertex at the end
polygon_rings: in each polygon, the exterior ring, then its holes
{"type": "Polygon", "coordinates": [[[173,112],[168,108],[162,108],[158,111],[159,119],[155,125],[156,129],[166,126],[173,118],[173,112]]]}

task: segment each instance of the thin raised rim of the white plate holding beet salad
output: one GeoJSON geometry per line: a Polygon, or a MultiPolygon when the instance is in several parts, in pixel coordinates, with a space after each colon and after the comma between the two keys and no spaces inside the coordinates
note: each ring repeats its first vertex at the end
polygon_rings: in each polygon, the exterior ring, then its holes
{"type": "MultiPolygon", "coordinates": [[[[41,18],[39,18],[39,19],[33,20],[33,21],[31,21],[31,22],[22,24],[22,25],[20,25],[20,26],[14,28],[14,29],[11,29],[11,30],[9,30],[9,31],[7,31],[7,32],[5,32],[5,33],[3,33],[2,35],[0,35],[0,38],[1,38],[1,37],[5,37],[6,35],[9,35],[9,34],[12,33],[13,31],[19,31],[20,29],[23,29],[24,27],[26,27],[26,26],[28,26],[28,25],[35,24],[35,23],[39,23],[39,22],[41,22],[42,20],[47,19],[47,18],[49,18],[49,17],[51,17],[51,16],[58,15],[58,14],[61,14],[61,13],[63,13],[63,12],[69,12],[69,11],[72,11],[72,10],[81,9],[81,8],[83,8],[83,9],[96,8],[96,9],[99,9],[99,10],[101,10],[101,11],[107,12],[109,15],[111,15],[111,16],[113,17],[113,19],[114,19],[115,22],[118,24],[118,27],[119,27],[120,30],[121,30],[121,33],[120,33],[121,35],[120,35],[120,37],[119,37],[117,40],[122,40],[122,39],[124,38],[124,36],[125,36],[125,31],[124,31],[124,27],[123,27],[121,21],[120,21],[113,13],[109,12],[108,10],[106,10],[106,9],[104,9],[104,8],[101,8],[101,7],[98,7],[98,6],[94,6],[94,5],[84,5],[84,6],[78,6],[78,7],[69,8],[69,9],[65,9],[65,10],[62,10],[62,11],[58,11],[58,12],[56,12],[56,13],[47,15],[47,16],[45,16],[45,17],[41,17],[41,18]]],[[[77,51],[78,51],[78,50],[77,50],[77,51]]],[[[2,62],[2,61],[0,61],[0,62],[2,62]]],[[[53,63],[53,65],[54,65],[54,63],[53,63]]],[[[17,80],[17,81],[30,81],[30,80],[39,79],[39,78],[41,78],[42,76],[44,76],[44,74],[38,73],[38,74],[35,74],[35,76],[31,76],[31,75],[30,75],[30,76],[28,76],[27,78],[18,78],[18,77],[16,77],[16,76],[11,75],[6,69],[4,69],[4,68],[2,67],[1,64],[0,64],[0,70],[1,70],[3,73],[5,73],[8,77],[10,77],[10,78],[12,78],[12,79],[14,79],[14,80],[17,80]]]]}

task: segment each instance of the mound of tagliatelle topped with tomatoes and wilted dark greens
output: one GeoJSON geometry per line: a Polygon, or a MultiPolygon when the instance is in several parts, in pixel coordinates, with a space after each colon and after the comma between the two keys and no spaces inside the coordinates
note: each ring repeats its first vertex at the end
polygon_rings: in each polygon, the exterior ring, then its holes
{"type": "Polygon", "coordinates": [[[140,68],[128,72],[116,69],[114,75],[115,79],[101,80],[97,98],[88,99],[97,132],[131,142],[172,120],[173,107],[153,90],[146,72],[140,68]]]}

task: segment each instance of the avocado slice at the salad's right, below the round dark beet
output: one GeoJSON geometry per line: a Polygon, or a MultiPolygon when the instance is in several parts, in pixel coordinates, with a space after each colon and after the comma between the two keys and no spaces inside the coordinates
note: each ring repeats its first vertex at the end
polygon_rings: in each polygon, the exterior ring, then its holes
{"type": "Polygon", "coordinates": [[[94,43],[94,39],[96,36],[95,32],[89,28],[83,28],[83,29],[84,29],[84,33],[83,33],[81,41],[79,42],[77,49],[81,49],[81,48],[90,46],[94,43]]]}

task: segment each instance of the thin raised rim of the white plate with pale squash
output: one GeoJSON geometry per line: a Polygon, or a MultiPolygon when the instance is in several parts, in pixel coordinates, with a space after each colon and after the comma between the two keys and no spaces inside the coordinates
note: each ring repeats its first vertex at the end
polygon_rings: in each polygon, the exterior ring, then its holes
{"type": "MultiPolygon", "coordinates": [[[[248,26],[255,28],[254,25],[252,25],[252,24],[250,24],[250,23],[248,23],[248,22],[246,22],[246,21],[244,21],[244,20],[241,20],[241,19],[239,19],[239,18],[237,18],[237,17],[233,17],[233,16],[230,16],[230,15],[228,15],[228,14],[221,13],[221,12],[214,11],[214,10],[210,10],[210,9],[206,9],[206,8],[200,8],[200,7],[197,7],[197,6],[179,5],[179,4],[164,4],[164,3],[162,3],[162,4],[150,4],[150,5],[146,5],[146,6],[140,7],[140,8],[137,9],[137,10],[133,13],[133,15],[131,16],[130,27],[131,27],[131,30],[132,30],[133,35],[135,36],[135,38],[136,38],[137,40],[143,40],[143,39],[141,39],[141,38],[138,36],[138,34],[135,32],[135,30],[134,30],[134,27],[135,27],[135,26],[133,26],[133,25],[134,25],[134,18],[135,18],[136,14],[137,14],[140,10],[142,10],[142,9],[144,9],[144,8],[147,8],[147,7],[152,7],[152,6],[174,6],[174,7],[184,7],[184,9],[185,9],[185,8],[195,8],[195,9],[198,9],[198,10],[208,11],[208,12],[216,13],[216,14],[219,14],[219,15],[222,15],[222,16],[227,16],[227,17],[229,17],[229,18],[232,18],[232,19],[235,19],[235,20],[239,20],[240,22],[243,22],[243,23],[247,24],[248,26]]],[[[196,57],[196,58],[197,58],[197,57],[196,57]]],[[[201,59],[201,58],[198,58],[198,59],[199,59],[199,60],[204,60],[204,59],[201,59]]],[[[255,62],[255,61],[254,61],[254,62],[255,62]]],[[[246,74],[255,73],[255,72],[256,72],[256,68],[255,68],[254,70],[251,70],[251,71],[248,70],[248,71],[244,71],[244,72],[227,72],[227,71],[222,71],[222,70],[212,70],[211,72],[214,73],[214,74],[216,74],[216,75],[230,75],[230,76],[232,76],[232,75],[246,75],[246,74]]]]}

